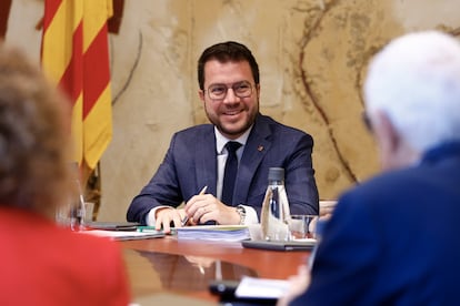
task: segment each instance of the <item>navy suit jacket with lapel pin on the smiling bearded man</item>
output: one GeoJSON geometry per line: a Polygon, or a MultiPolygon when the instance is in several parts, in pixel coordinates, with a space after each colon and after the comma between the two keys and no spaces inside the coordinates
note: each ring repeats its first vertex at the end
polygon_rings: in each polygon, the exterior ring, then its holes
{"type": "MultiPolygon", "coordinates": [[[[232,205],[260,210],[268,185],[269,167],[283,167],[291,213],[318,214],[318,190],[311,152],[312,137],[258,115],[239,164],[232,205]]],[[[179,206],[203,186],[216,195],[217,149],[212,124],[193,126],[173,135],[164,161],[149,184],[128,208],[127,220],[146,222],[159,205],[179,206]]]]}

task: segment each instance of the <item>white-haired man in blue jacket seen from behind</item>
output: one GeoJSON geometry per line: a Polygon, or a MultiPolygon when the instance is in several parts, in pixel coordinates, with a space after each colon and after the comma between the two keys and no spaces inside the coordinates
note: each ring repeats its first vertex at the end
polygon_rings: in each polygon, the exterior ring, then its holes
{"type": "Polygon", "coordinates": [[[459,42],[396,39],[363,92],[384,172],[339,198],[292,305],[459,305],[459,42]]]}

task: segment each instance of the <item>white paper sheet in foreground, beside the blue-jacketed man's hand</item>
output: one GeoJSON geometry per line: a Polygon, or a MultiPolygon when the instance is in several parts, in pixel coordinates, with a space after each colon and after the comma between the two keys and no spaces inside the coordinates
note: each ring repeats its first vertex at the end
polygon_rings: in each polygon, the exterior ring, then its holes
{"type": "Polygon", "coordinates": [[[241,298],[278,299],[284,295],[288,289],[288,280],[244,276],[238,285],[234,295],[241,298]]]}

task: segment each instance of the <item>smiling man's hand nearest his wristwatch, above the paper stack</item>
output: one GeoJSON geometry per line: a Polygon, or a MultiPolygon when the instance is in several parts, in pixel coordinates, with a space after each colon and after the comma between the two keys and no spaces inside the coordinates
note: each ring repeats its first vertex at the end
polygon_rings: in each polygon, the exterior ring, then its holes
{"type": "Polygon", "coordinates": [[[212,194],[199,194],[186,204],[186,214],[192,224],[216,221],[218,224],[239,224],[240,214],[232,206],[227,206],[212,194]]]}

